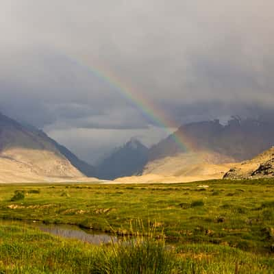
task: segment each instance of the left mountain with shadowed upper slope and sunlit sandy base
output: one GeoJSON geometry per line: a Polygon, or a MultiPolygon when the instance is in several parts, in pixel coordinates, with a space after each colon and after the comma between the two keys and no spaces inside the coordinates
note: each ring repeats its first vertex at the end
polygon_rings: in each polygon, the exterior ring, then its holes
{"type": "Polygon", "coordinates": [[[44,132],[0,114],[0,182],[45,182],[81,177],[85,175],[44,132]]]}

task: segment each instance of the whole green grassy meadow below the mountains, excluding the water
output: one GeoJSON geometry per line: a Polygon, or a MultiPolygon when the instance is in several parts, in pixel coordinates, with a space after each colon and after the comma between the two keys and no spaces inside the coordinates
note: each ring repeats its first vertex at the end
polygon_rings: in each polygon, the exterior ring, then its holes
{"type": "Polygon", "coordinates": [[[1,184],[0,219],[75,224],[127,239],[94,246],[4,222],[0,273],[274,273],[271,179],[1,184]]]}

